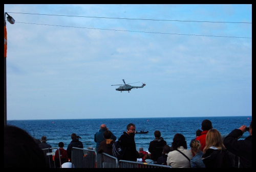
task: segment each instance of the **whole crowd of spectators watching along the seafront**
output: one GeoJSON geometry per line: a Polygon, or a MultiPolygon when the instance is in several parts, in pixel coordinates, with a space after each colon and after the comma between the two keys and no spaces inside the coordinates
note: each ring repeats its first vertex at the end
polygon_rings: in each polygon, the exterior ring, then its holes
{"type": "MultiPolygon", "coordinates": [[[[150,142],[146,152],[143,148],[137,151],[134,139],[136,126],[132,123],[128,124],[126,131],[118,138],[122,150],[125,150],[119,159],[169,165],[173,168],[252,167],[252,121],[249,128],[243,125],[225,136],[221,135],[217,129],[213,129],[208,119],[202,121],[201,129],[196,131],[196,137],[190,141],[190,150],[181,133],[174,135],[173,142],[169,146],[161,137],[161,132],[156,130],[155,138],[150,142]],[[250,135],[245,139],[239,139],[246,131],[250,135]]],[[[83,149],[79,136],[73,133],[71,139],[67,150],[63,149],[63,142],[59,142],[59,149],[55,152],[55,157],[51,158],[46,156],[45,152],[52,148],[47,143],[46,136],[42,136],[39,141],[18,127],[6,125],[4,127],[4,167],[51,167],[52,161],[57,159],[60,160],[62,167],[71,167],[72,148],[83,149]]],[[[99,132],[94,135],[95,152],[113,156],[112,146],[116,139],[117,137],[106,125],[102,124],[99,132]]],[[[90,147],[90,149],[93,148],[90,147]]]]}

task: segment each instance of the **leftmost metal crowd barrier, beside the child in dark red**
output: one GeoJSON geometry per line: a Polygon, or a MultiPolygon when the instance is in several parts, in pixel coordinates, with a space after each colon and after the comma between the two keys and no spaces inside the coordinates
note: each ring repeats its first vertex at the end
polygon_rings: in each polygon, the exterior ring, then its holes
{"type": "Polygon", "coordinates": [[[50,168],[61,168],[60,154],[59,154],[59,158],[56,161],[54,161],[55,152],[57,150],[58,150],[58,153],[59,153],[59,149],[58,148],[42,149],[42,151],[44,151],[44,153],[45,153],[47,167],[50,167],[50,168]]]}

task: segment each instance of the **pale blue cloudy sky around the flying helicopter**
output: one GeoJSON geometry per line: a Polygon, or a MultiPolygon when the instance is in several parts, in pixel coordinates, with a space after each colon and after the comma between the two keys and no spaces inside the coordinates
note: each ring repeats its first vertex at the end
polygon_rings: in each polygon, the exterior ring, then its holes
{"type": "Polygon", "coordinates": [[[250,4],[4,10],[7,120],[252,114],[250,4]]]}

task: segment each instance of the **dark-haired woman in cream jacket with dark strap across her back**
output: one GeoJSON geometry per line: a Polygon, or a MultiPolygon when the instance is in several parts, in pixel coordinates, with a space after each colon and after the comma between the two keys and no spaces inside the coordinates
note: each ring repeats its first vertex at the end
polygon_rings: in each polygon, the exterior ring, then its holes
{"type": "Polygon", "coordinates": [[[173,151],[167,155],[167,165],[173,168],[190,168],[190,160],[193,155],[190,150],[187,150],[187,142],[182,134],[174,135],[171,149],[173,151]]]}

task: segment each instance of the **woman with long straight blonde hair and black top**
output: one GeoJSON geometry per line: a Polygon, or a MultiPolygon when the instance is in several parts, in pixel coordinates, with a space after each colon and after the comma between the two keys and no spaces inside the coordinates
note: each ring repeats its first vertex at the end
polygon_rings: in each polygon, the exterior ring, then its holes
{"type": "Polygon", "coordinates": [[[231,167],[221,133],[218,130],[210,129],[207,132],[202,158],[206,168],[231,167]]]}

